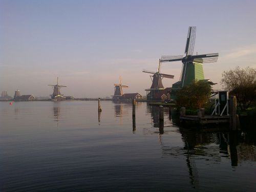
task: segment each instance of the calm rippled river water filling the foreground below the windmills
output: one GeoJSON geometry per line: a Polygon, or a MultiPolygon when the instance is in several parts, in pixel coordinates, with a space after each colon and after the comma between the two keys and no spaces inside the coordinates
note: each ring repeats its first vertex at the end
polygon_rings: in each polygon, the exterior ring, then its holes
{"type": "Polygon", "coordinates": [[[191,131],[168,109],[0,102],[0,191],[256,191],[254,132],[191,131]],[[159,129],[160,126],[160,129],[159,129]]]}

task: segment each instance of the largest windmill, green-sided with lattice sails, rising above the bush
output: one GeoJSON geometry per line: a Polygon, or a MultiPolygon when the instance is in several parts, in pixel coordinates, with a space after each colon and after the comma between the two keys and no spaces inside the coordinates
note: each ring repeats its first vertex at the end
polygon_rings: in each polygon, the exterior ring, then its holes
{"type": "MultiPolygon", "coordinates": [[[[209,79],[204,79],[203,63],[217,62],[218,53],[193,55],[196,40],[196,27],[188,28],[185,56],[162,56],[160,62],[182,61],[181,75],[178,82],[173,84],[172,89],[183,88],[194,80],[204,80],[212,83],[209,79]]],[[[214,83],[212,83],[214,84],[214,83]]]]}

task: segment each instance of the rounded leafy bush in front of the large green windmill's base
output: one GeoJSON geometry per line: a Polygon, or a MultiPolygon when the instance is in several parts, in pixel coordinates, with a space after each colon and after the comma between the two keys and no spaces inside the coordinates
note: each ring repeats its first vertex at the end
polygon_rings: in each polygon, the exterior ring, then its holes
{"type": "Polygon", "coordinates": [[[195,81],[177,93],[177,104],[186,108],[202,108],[210,98],[211,87],[208,82],[195,81]]]}

